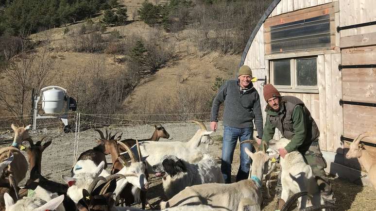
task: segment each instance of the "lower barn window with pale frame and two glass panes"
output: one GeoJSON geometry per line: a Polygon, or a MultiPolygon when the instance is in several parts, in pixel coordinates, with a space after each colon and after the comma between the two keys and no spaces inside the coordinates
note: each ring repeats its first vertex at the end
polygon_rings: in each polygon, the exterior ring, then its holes
{"type": "Polygon", "coordinates": [[[271,81],[279,91],[317,93],[316,57],[271,62],[271,81]]]}

